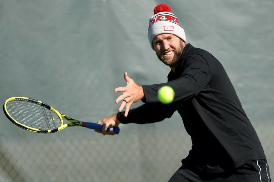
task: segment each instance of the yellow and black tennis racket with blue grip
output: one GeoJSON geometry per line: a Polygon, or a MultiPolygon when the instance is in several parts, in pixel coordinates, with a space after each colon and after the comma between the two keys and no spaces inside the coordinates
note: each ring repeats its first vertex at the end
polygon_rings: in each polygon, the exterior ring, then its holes
{"type": "MultiPolygon", "coordinates": [[[[37,133],[55,133],[71,126],[81,126],[101,131],[103,125],[78,121],[63,115],[53,107],[27,97],[11,97],[3,105],[7,118],[15,125],[37,133]],[[63,123],[63,119],[70,123],[63,123]]],[[[119,133],[119,127],[108,128],[107,131],[119,133]]]]}

